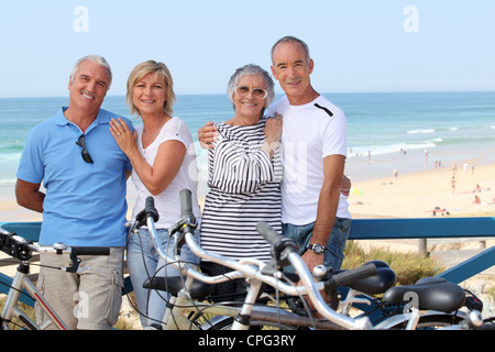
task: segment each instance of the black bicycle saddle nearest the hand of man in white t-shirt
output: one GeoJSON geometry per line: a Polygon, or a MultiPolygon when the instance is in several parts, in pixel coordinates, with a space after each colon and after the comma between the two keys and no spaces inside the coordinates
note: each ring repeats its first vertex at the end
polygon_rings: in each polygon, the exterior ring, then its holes
{"type": "Polygon", "coordinates": [[[366,264],[375,264],[376,275],[360,279],[349,287],[366,295],[377,295],[383,294],[396,284],[397,277],[388,264],[382,261],[371,261],[363,265],[366,264]]]}

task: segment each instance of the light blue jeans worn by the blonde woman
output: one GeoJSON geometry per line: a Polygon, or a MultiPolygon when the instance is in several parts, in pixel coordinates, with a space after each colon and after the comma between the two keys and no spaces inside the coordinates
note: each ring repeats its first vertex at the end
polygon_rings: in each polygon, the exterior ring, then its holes
{"type": "MultiPolygon", "coordinates": [[[[169,256],[174,256],[174,239],[169,241],[168,231],[157,229],[157,234],[164,251],[169,256]]],[[[196,239],[198,241],[198,231],[196,231],[196,239]]],[[[178,276],[179,273],[174,266],[166,265],[165,261],[158,255],[147,229],[140,229],[139,234],[130,233],[127,249],[128,270],[138,301],[141,326],[145,328],[151,323],[160,323],[165,315],[165,306],[169,296],[165,292],[143,288],[143,283],[148,277],[178,276]]],[[[187,245],[183,246],[180,258],[187,263],[199,264],[199,258],[187,245]]]]}

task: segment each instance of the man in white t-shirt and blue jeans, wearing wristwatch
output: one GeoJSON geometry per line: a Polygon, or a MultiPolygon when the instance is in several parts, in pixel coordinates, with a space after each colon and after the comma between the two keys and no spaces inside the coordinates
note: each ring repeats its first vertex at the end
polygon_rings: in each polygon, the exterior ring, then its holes
{"type": "Polygon", "coordinates": [[[275,43],[272,65],[286,94],[267,112],[284,119],[284,234],[297,241],[310,268],[324,263],[338,270],[351,223],[346,197],[341,194],[345,116],[311,86],[315,63],[302,41],[286,36],[275,43]]]}

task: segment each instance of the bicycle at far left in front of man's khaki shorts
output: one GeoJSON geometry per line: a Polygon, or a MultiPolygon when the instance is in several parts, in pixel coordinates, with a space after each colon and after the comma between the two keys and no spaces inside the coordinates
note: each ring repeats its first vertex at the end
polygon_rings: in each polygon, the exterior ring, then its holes
{"type": "Polygon", "coordinates": [[[9,323],[19,324],[28,330],[45,330],[53,326],[58,330],[68,330],[66,323],[53,310],[50,302],[37,290],[36,286],[29,278],[33,253],[43,254],[68,254],[72,265],[67,267],[54,267],[67,273],[82,273],[85,271],[94,271],[91,267],[80,268],[79,255],[109,255],[108,248],[85,248],[85,246],[67,246],[65,243],[55,243],[53,246],[35,245],[31,241],[26,241],[16,233],[7,231],[0,227],[0,250],[10,256],[21,261],[16,268],[12,284],[7,295],[6,304],[0,316],[0,330],[11,330],[9,323]],[[29,315],[19,307],[21,295],[29,295],[48,317],[47,321],[40,326],[29,315]],[[13,322],[12,318],[19,320],[13,322]]]}

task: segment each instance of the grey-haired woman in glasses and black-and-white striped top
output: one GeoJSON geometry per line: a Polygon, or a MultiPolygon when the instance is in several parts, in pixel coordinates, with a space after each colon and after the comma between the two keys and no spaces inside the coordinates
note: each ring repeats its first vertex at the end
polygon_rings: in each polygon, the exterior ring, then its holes
{"type": "MultiPolygon", "coordinates": [[[[216,123],[219,135],[208,151],[210,190],[202,211],[201,246],[235,260],[268,261],[270,245],[256,223],[266,221],[282,233],[282,119],[263,118],[275,96],[274,82],[260,66],[246,65],[231,77],[228,94],[235,113],[216,123]]],[[[210,275],[229,271],[211,262],[201,267],[210,275]]],[[[234,289],[227,285],[219,290],[234,289]]]]}

